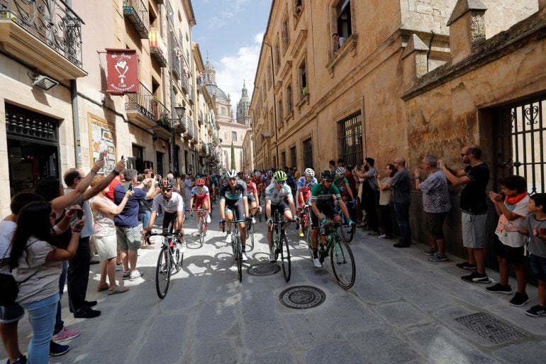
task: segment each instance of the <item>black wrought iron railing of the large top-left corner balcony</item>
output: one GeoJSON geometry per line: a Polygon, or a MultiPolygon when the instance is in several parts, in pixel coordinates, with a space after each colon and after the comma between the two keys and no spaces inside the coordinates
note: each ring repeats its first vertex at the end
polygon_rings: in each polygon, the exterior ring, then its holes
{"type": "MultiPolygon", "coordinates": [[[[82,21],[65,1],[0,0],[9,19],[78,67],[82,67],[82,21]]],[[[26,60],[32,63],[32,60],[26,60]]]]}

